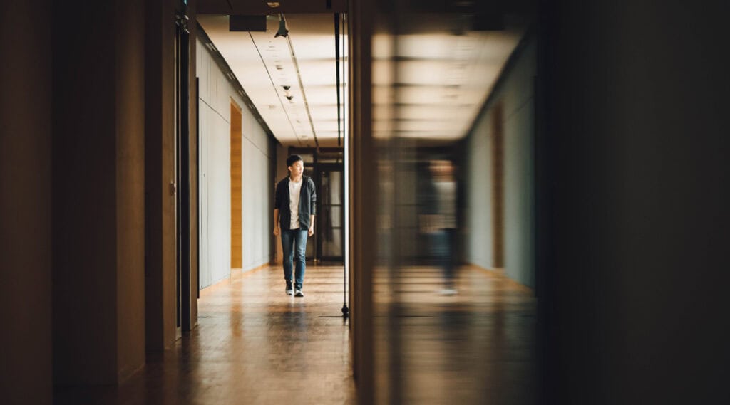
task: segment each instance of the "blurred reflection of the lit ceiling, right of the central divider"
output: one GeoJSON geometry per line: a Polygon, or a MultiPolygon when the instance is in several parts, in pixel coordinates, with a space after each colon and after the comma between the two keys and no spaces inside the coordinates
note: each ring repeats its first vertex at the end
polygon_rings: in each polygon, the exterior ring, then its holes
{"type": "Polygon", "coordinates": [[[396,36],[373,39],[376,138],[445,143],[467,135],[528,26],[468,31],[451,16],[413,13],[396,36]]]}

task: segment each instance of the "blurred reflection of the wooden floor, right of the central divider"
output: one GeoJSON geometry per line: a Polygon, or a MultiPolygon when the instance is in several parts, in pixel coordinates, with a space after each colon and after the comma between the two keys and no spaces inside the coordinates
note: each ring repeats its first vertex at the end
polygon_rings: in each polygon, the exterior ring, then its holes
{"type": "Polygon", "coordinates": [[[468,267],[456,295],[434,267],[376,277],[376,404],[537,403],[536,301],[499,272],[468,267]]]}

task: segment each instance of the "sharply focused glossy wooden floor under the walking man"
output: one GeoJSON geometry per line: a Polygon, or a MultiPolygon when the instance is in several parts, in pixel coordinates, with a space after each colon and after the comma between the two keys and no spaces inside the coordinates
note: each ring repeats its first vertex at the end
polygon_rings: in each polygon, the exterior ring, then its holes
{"type": "Polygon", "coordinates": [[[119,388],[61,388],[55,404],[355,404],[342,267],[307,266],[304,298],[280,267],[201,291],[199,325],[119,388]],[[330,318],[330,316],[332,318],[330,318]]]}

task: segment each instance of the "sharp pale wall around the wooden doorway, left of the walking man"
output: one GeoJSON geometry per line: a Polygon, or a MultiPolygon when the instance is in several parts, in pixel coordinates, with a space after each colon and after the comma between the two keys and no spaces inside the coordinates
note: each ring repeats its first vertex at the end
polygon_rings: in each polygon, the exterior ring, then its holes
{"type": "Polygon", "coordinates": [[[271,259],[272,182],[269,137],[198,41],[200,138],[200,288],[231,271],[231,98],[242,107],[243,270],[271,259]]]}

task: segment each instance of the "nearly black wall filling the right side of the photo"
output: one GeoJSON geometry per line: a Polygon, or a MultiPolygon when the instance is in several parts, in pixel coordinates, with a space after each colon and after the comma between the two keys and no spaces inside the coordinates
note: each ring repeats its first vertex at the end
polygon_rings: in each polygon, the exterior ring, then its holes
{"type": "Polygon", "coordinates": [[[548,3],[542,398],[728,403],[730,7],[548,3]]]}

